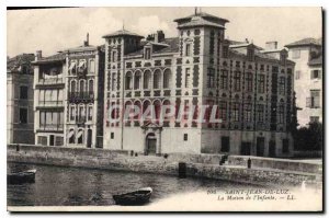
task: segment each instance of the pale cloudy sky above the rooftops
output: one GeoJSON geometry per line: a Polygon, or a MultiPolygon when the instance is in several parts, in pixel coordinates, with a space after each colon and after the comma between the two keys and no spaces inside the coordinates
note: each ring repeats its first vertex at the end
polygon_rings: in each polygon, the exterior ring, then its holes
{"type": "MultiPolygon", "coordinates": [[[[202,12],[229,20],[226,37],[248,38],[264,47],[277,41],[282,47],[305,37],[321,37],[320,8],[201,8],[202,12]]],[[[194,8],[70,8],[7,11],[7,55],[43,50],[43,56],[82,45],[104,44],[103,35],[122,30],[147,36],[162,30],[178,36],[174,19],[194,13],[194,8]]]]}

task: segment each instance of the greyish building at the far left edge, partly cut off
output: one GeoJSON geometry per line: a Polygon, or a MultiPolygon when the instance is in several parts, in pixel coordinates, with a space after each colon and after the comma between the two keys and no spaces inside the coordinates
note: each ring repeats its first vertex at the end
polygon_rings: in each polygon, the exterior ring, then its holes
{"type": "Polygon", "coordinates": [[[34,144],[34,54],[7,60],[7,144],[34,144]]]}

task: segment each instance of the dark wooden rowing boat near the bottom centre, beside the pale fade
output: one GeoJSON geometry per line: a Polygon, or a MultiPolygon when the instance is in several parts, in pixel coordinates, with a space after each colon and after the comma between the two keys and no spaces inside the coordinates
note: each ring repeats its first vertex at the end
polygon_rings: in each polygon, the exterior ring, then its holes
{"type": "Polygon", "coordinates": [[[144,205],[152,194],[151,187],[143,187],[134,192],[113,195],[116,205],[144,205]]]}

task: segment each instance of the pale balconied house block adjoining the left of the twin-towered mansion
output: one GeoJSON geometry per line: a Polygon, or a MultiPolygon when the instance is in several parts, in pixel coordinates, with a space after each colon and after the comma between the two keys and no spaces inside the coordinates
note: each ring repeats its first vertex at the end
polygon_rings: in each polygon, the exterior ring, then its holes
{"type": "Polygon", "coordinates": [[[35,140],[45,146],[102,147],[103,69],[101,47],[80,47],[35,65],[35,140]]]}

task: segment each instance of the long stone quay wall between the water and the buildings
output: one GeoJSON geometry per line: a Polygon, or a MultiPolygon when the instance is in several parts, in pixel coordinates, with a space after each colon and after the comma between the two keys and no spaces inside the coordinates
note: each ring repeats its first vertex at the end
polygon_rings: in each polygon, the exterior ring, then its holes
{"type": "MultiPolygon", "coordinates": [[[[247,169],[240,165],[219,165],[220,156],[168,154],[163,157],[132,156],[132,151],[68,147],[9,145],[8,161],[61,167],[121,170],[179,175],[179,162],[185,162],[186,176],[226,180],[260,185],[300,185],[303,181],[316,184],[321,173],[283,171],[275,169],[247,169]]],[[[229,160],[228,160],[229,162],[229,160]]],[[[247,164],[246,164],[247,165],[247,164]]]]}

